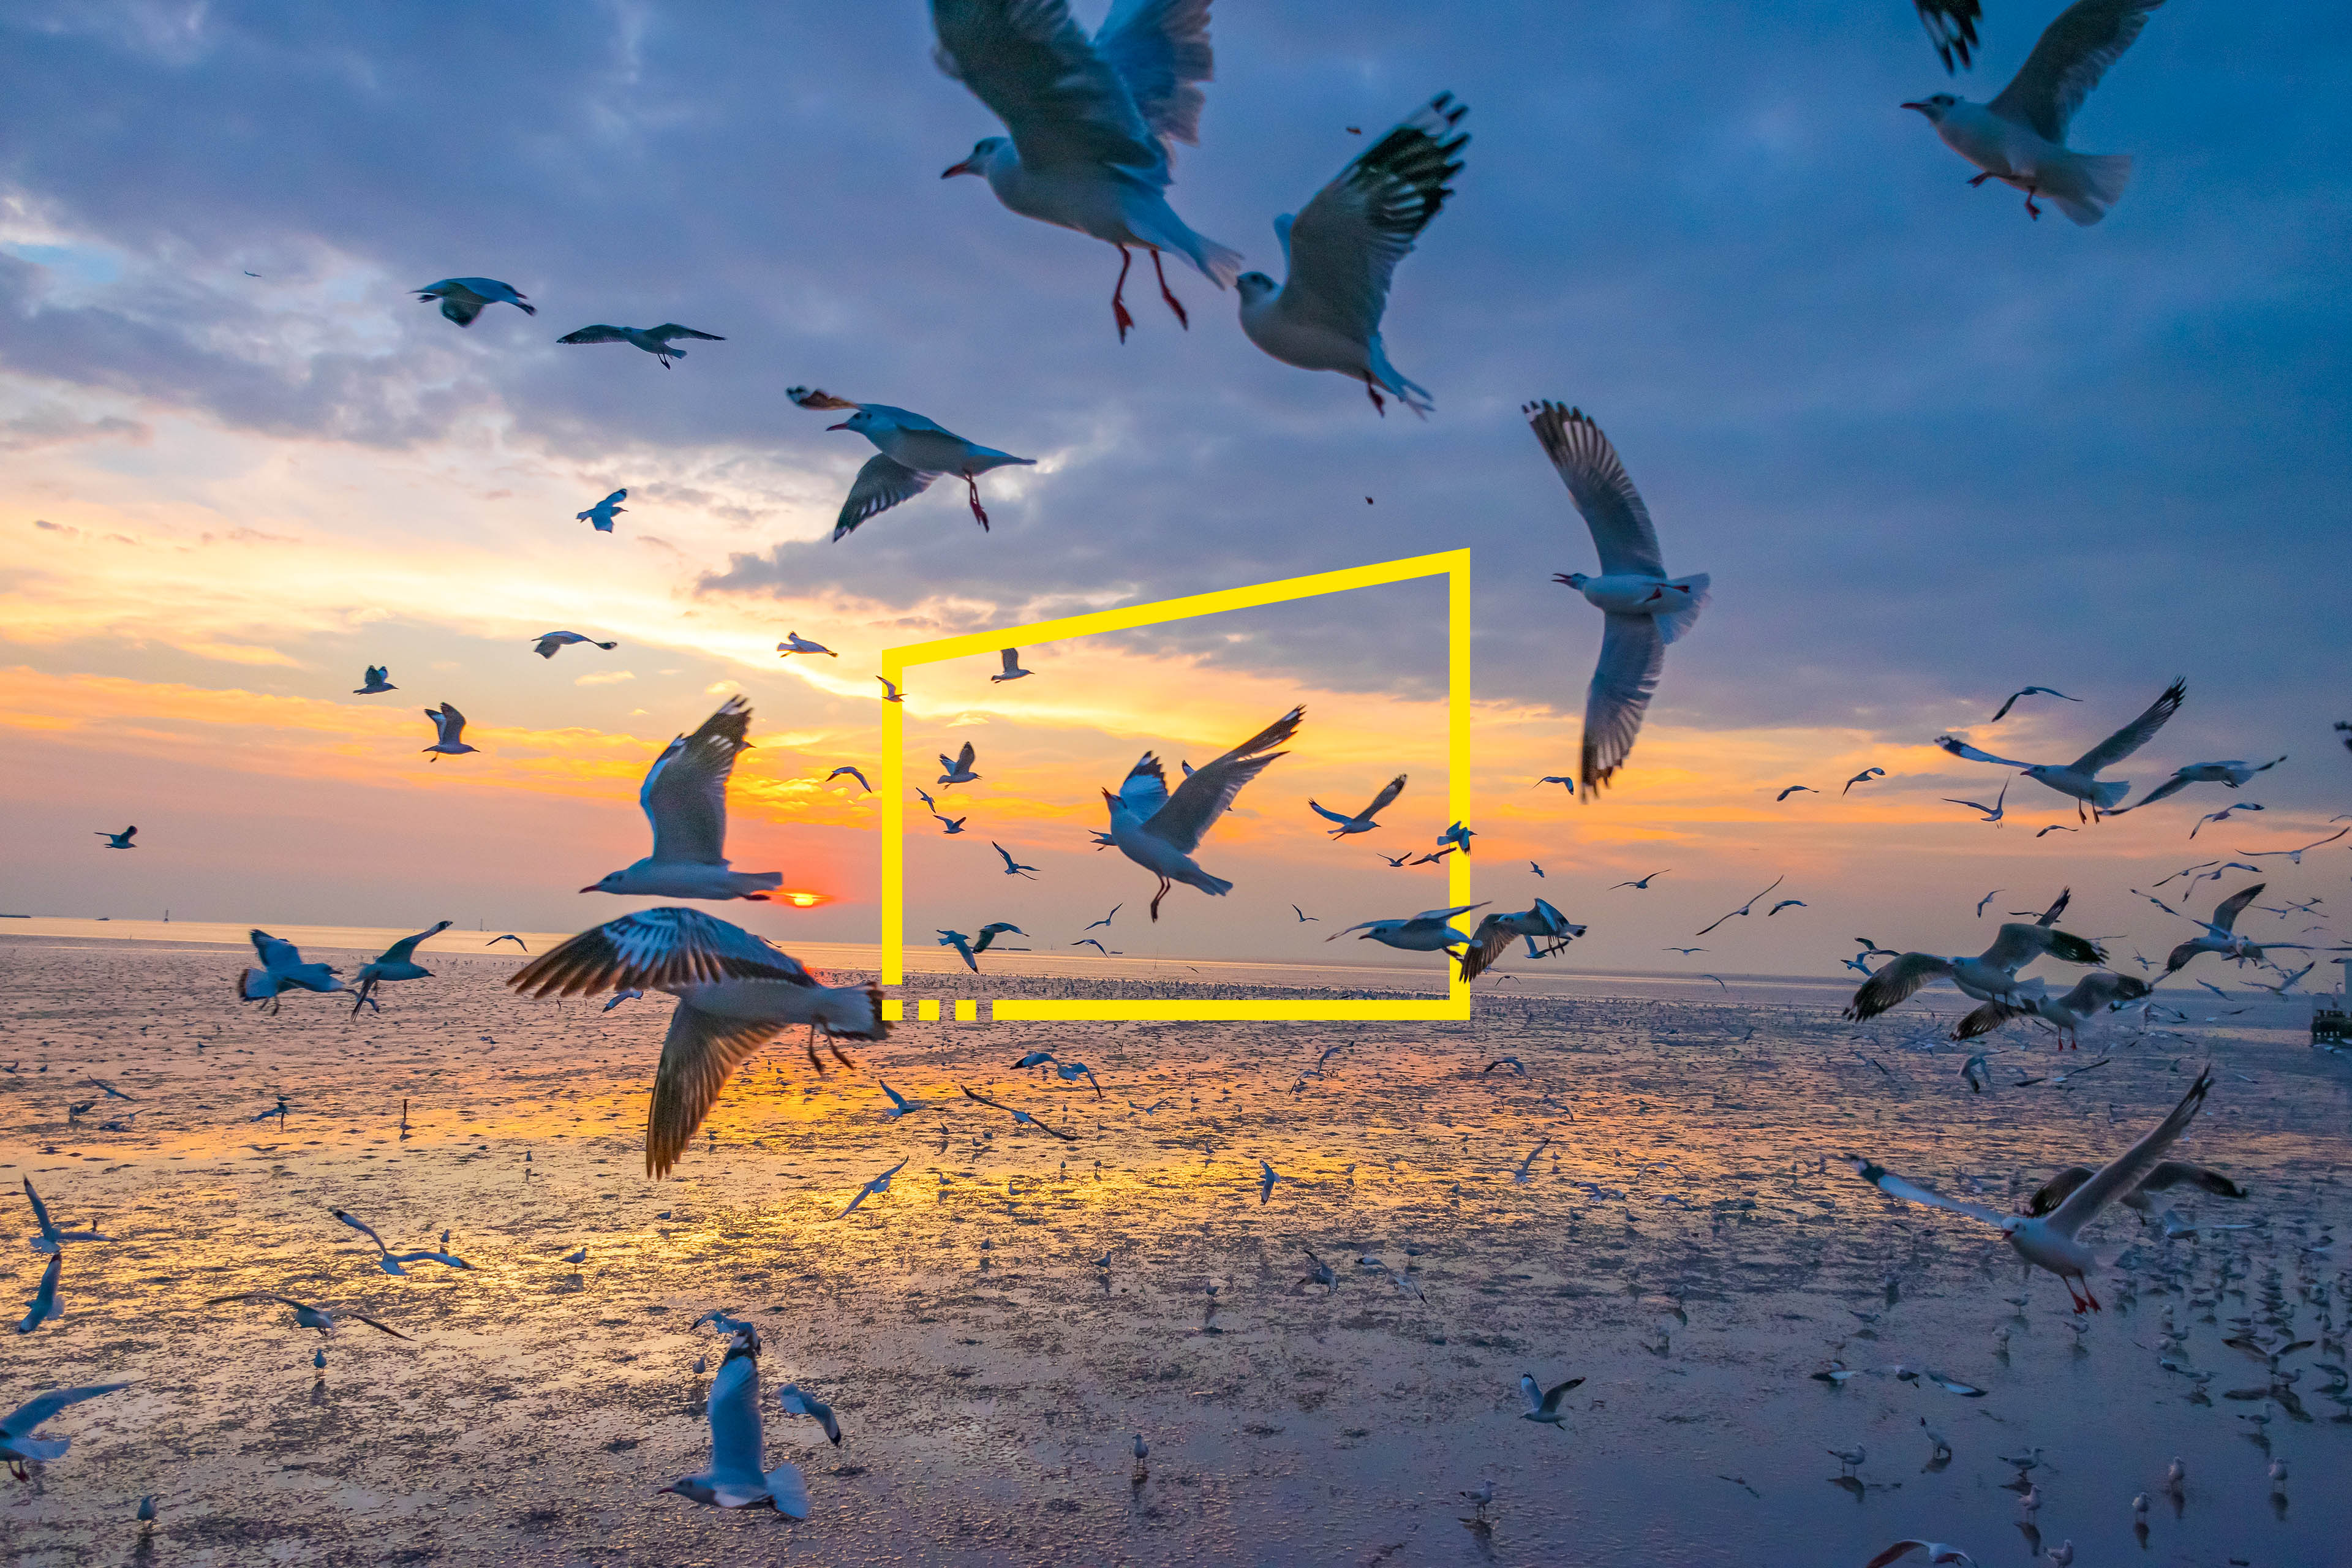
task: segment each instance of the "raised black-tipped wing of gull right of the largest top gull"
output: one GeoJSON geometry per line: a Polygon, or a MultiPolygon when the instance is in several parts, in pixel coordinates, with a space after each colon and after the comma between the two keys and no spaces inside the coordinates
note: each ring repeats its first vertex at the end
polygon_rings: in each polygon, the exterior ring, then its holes
{"type": "Polygon", "coordinates": [[[1449,132],[1465,113],[1451,94],[1437,94],[1364,148],[1289,221],[1282,315],[1348,343],[1371,343],[1381,334],[1388,280],[1451,195],[1446,181],[1461,174],[1454,155],[1470,136],[1449,132]]]}

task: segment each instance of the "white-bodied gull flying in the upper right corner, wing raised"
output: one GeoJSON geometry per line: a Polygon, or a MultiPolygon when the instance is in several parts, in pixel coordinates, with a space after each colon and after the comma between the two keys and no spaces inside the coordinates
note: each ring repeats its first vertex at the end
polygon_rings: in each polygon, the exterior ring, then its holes
{"type": "Polygon", "coordinates": [[[2034,197],[2046,195],[2077,223],[2098,223],[2124,195],[2131,158],[2074,153],[2065,146],[2067,122],[2161,2],[2077,0],[2044,28],[2025,66],[1990,103],[1938,92],[1903,108],[1926,115],[1947,148],[1983,169],[1971,186],[1997,179],[2025,193],[2027,216],[2042,216],[2034,197]]]}

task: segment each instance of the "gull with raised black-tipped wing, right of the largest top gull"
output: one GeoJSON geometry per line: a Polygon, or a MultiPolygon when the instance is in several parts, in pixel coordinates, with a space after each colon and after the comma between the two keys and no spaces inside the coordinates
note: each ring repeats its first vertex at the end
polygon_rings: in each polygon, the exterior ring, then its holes
{"type": "Polygon", "coordinates": [[[1381,343],[1388,280],[1414,240],[1446,205],[1446,183],[1463,172],[1456,132],[1470,110],[1442,92],[1402,125],[1355,155],[1298,214],[1275,219],[1284,280],[1242,273],[1242,331],[1284,364],[1327,369],[1364,383],[1371,407],[1388,414],[1388,393],[1428,418],[1425,388],[1397,374],[1381,343]]]}

